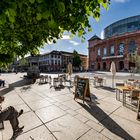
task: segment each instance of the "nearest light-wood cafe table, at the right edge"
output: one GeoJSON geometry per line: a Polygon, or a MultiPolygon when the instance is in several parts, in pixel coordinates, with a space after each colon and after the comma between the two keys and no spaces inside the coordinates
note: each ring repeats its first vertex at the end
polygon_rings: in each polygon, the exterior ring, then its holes
{"type": "Polygon", "coordinates": [[[139,91],[139,94],[140,94],[140,88],[135,88],[132,86],[116,86],[116,99],[120,101],[120,92],[121,92],[123,94],[123,100],[122,100],[123,106],[125,106],[126,105],[126,93],[130,93],[134,90],[139,91]]]}

